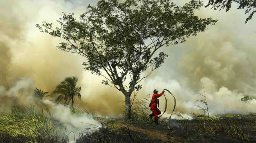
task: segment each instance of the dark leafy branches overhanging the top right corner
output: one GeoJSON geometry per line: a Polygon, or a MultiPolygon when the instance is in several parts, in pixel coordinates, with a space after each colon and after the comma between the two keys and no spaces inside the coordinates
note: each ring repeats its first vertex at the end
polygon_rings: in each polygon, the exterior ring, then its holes
{"type": "Polygon", "coordinates": [[[229,11],[233,3],[238,4],[237,9],[245,9],[245,14],[249,14],[246,18],[245,23],[252,19],[254,13],[256,13],[256,0],[209,0],[205,7],[212,5],[213,9],[226,9],[229,11]]]}

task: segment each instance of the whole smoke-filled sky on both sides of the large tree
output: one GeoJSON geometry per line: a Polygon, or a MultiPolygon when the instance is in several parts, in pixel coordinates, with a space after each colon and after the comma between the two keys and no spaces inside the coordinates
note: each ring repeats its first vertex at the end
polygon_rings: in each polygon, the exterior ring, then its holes
{"type": "MultiPolygon", "coordinates": [[[[180,6],[185,2],[189,0],[174,0],[180,6]]],[[[57,50],[60,39],[35,27],[42,21],[56,24],[62,12],[78,17],[88,4],[95,5],[96,1],[0,1],[1,101],[7,100],[6,97],[13,93],[11,89],[17,85],[20,85],[19,93],[22,89],[32,91],[34,87],[51,92],[65,77],[75,75],[82,87],[82,100],[75,101],[77,107],[108,116],[123,112],[125,98],[120,91],[102,85],[102,77],[84,71],[84,57],[57,50]],[[27,84],[29,86],[25,86],[27,84]]],[[[169,57],[162,67],[143,80],[138,100],[150,98],[153,89],[169,89],[176,96],[177,112],[200,113],[196,100],[202,100],[202,96],[198,93],[207,95],[212,115],[255,112],[256,100],[241,102],[240,99],[245,95],[256,98],[256,18],[245,24],[248,15],[237,10],[236,5],[227,13],[209,7],[201,7],[195,13],[218,22],[183,44],[161,48],[169,57]]],[[[17,99],[29,93],[22,91],[17,99]]],[[[173,100],[171,96],[167,99],[168,113],[172,111],[173,100]]],[[[0,104],[13,103],[8,101],[0,104]]],[[[163,103],[161,97],[161,110],[165,106],[163,103]]]]}

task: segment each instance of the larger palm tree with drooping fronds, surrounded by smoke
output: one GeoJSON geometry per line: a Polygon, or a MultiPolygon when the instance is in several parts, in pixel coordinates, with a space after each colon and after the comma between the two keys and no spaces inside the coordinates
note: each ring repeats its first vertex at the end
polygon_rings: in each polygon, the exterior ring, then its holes
{"type": "Polygon", "coordinates": [[[81,87],[76,86],[77,80],[78,79],[74,76],[66,77],[64,81],[57,85],[56,89],[53,91],[53,94],[60,94],[56,98],[57,103],[65,100],[65,104],[68,104],[71,101],[71,106],[73,107],[75,96],[78,96],[78,98],[81,100],[81,87]]]}

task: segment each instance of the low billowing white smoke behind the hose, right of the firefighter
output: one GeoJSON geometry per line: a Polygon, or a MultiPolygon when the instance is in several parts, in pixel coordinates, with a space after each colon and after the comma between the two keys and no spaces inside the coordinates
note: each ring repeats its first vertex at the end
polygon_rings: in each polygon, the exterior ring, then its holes
{"type": "MultiPolygon", "coordinates": [[[[221,88],[216,88],[217,85],[213,80],[203,77],[200,79],[198,84],[201,85],[200,90],[193,91],[189,87],[183,86],[176,80],[169,79],[164,81],[163,77],[156,76],[154,79],[149,79],[145,83],[146,87],[154,87],[156,89],[170,89],[172,94],[176,97],[176,109],[175,112],[181,113],[198,113],[202,114],[196,105],[203,106],[202,103],[197,100],[205,100],[203,96],[206,95],[206,100],[209,107],[210,116],[224,114],[224,113],[252,113],[255,112],[256,100],[250,100],[247,102],[241,101],[245,95],[239,93],[237,90],[231,91],[228,88],[222,86],[221,88]],[[198,94],[199,93],[199,94],[198,94]]],[[[151,88],[152,90],[153,88],[151,88]]],[[[152,90],[153,91],[153,90],[152,90]]],[[[160,92],[160,91],[159,91],[160,92]]],[[[165,92],[167,97],[167,114],[169,116],[170,112],[174,106],[174,100],[169,93],[165,92]],[[169,114],[168,114],[169,113],[169,114]]],[[[165,99],[160,97],[160,110],[163,111],[165,108],[165,99]]],[[[174,115],[174,118],[175,115],[174,115]]]]}

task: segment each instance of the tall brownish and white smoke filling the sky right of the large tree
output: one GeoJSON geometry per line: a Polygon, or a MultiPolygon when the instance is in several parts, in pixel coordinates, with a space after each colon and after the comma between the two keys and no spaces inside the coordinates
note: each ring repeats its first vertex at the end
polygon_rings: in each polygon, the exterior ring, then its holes
{"type": "MultiPolygon", "coordinates": [[[[246,15],[235,8],[225,13],[202,7],[196,14],[218,22],[184,44],[164,48],[169,59],[145,80],[145,87],[171,89],[176,111],[183,113],[199,112],[196,100],[203,97],[197,93],[204,91],[212,115],[255,112],[256,100],[241,102],[245,95],[256,97],[255,18],[245,25],[246,15]]],[[[169,105],[170,112],[173,103],[169,105]]]]}

